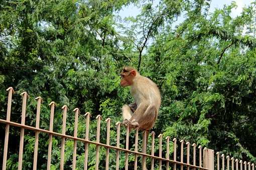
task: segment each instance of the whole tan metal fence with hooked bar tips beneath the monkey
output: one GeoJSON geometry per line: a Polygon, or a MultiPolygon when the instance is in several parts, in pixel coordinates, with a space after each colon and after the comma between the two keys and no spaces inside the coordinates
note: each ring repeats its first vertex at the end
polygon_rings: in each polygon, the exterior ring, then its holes
{"type": "MultiPolygon", "coordinates": [[[[48,144],[48,157],[47,157],[47,169],[50,169],[51,167],[51,155],[52,155],[52,138],[53,136],[60,136],[61,137],[61,159],[60,159],[60,169],[64,169],[64,150],[65,150],[65,140],[66,139],[72,139],[74,141],[73,144],[73,162],[72,162],[72,169],[76,169],[76,149],[77,149],[77,141],[84,142],[85,148],[84,148],[84,169],[87,169],[88,167],[88,145],[94,144],[96,145],[96,164],[95,169],[99,168],[99,147],[105,147],[106,149],[106,158],[105,158],[105,166],[106,169],[109,169],[109,149],[116,150],[116,169],[119,169],[119,154],[120,151],[125,153],[125,169],[129,168],[129,156],[134,156],[134,167],[133,169],[138,168],[138,156],[142,156],[141,159],[141,167],[142,169],[147,169],[146,167],[146,159],[151,159],[151,169],[155,169],[155,161],[158,161],[158,168],[161,169],[163,167],[162,163],[165,163],[166,169],[180,169],[183,170],[183,167],[186,167],[187,170],[190,168],[193,168],[194,170],[197,169],[204,169],[204,170],[213,170],[214,167],[219,170],[220,168],[220,153],[216,153],[216,162],[214,162],[214,150],[208,149],[208,148],[202,148],[201,145],[198,147],[195,143],[192,144],[192,147],[190,146],[190,143],[187,141],[185,143],[184,140],[180,140],[180,145],[177,143],[177,139],[174,138],[172,140],[173,142],[173,152],[172,156],[173,159],[170,159],[170,152],[169,152],[169,143],[170,143],[170,137],[166,137],[166,150],[163,150],[162,148],[162,134],[158,135],[159,138],[159,153],[158,156],[155,155],[155,132],[151,132],[151,153],[147,153],[147,131],[143,132],[143,143],[142,143],[142,152],[138,151],[138,138],[139,138],[139,131],[138,128],[135,129],[135,148],[129,148],[129,127],[126,127],[126,142],[125,142],[125,148],[120,147],[120,127],[121,123],[116,122],[116,145],[110,145],[110,123],[111,119],[107,118],[106,121],[106,143],[100,142],[100,122],[101,122],[101,116],[97,115],[97,132],[96,132],[96,141],[92,141],[89,139],[89,123],[90,123],[90,113],[86,112],[86,130],[85,130],[85,138],[79,138],[77,137],[77,128],[78,128],[78,114],[79,109],[75,108],[73,111],[75,112],[75,122],[74,122],[74,135],[66,135],[66,117],[67,117],[67,105],[63,105],[63,124],[62,124],[62,133],[57,133],[53,131],[53,120],[54,120],[54,109],[55,109],[55,102],[50,102],[51,112],[50,112],[50,127],[49,130],[40,128],[40,108],[41,108],[41,102],[42,98],[39,96],[35,98],[37,100],[37,114],[36,114],[36,126],[29,126],[25,124],[25,117],[26,117],[26,104],[27,104],[27,97],[28,93],[23,92],[22,94],[22,115],[21,115],[21,123],[13,122],[11,121],[11,105],[12,105],[12,95],[14,93],[13,87],[9,87],[7,89],[9,92],[8,94],[8,106],[7,106],[7,118],[0,119],[0,123],[6,124],[6,132],[5,132],[5,144],[4,144],[4,153],[3,153],[3,169],[7,168],[7,159],[8,159],[8,140],[9,140],[9,130],[10,126],[17,126],[21,128],[21,134],[20,134],[20,149],[19,149],[19,165],[18,169],[22,169],[22,161],[23,161],[23,146],[24,146],[24,130],[34,130],[35,131],[35,148],[34,148],[34,162],[33,162],[33,169],[37,169],[37,160],[38,160],[38,141],[39,141],[39,133],[47,133],[49,135],[49,144],[48,144]],[[184,148],[184,144],[186,148],[184,148]],[[179,146],[179,147],[178,147],[179,146]],[[179,148],[179,150],[177,150],[179,148]],[[186,150],[186,154],[184,155],[184,150],[186,150]],[[193,150],[193,153],[190,153],[190,150],[193,150]],[[203,153],[202,153],[203,152],[203,153]],[[162,156],[163,153],[166,153],[166,156],[162,156]],[[180,155],[177,156],[177,153],[180,153],[180,155]],[[196,154],[198,153],[198,154],[196,154]],[[132,155],[131,155],[132,154],[132,155]],[[184,156],[186,157],[186,162],[184,161],[184,156]],[[179,160],[178,160],[179,158],[179,160]],[[190,162],[190,159],[193,160],[190,162]]],[[[131,135],[131,134],[130,134],[131,135]]],[[[238,159],[234,159],[233,157],[226,156],[226,164],[225,164],[225,156],[224,154],[221,154],[222,159],[222,170],[229,170],[231,167],[232,170],[234,170],[234,162],[235,162],[235,170],[238,170],[238,159]],[[231,160],[231,163],[230,163],[231,160]]],[[[239,161],[240,163],[240,170],[254,170],[254,163],[250,163],[246,161],[239,161]]]]}

